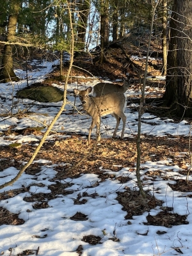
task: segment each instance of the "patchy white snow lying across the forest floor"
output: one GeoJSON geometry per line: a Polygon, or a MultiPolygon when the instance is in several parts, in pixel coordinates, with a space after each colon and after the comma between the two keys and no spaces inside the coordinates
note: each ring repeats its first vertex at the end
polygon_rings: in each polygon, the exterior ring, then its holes
{"type": "MultiPolygon", "coordinates": [[[[29,84],[44,81],[53,70],[51,62],[33,61],[31,65],[34,67],[29,72],[29,84]]],[[[33,102],[28,99],[17,99],[15,94],[20,88],[26,86],[26,74],[23,70],[15,70],[21,78],[19,82],[12,84],[0,84],[1,114],[0,116],[0,134],[6,131],[11,125],[15,125],[15,129],[24,129],[26,127],[49,125],[52,118],[58,112],[61,102],[55,103],[40,103],[33,102]],[[12,97],[13,95],[13,97],[12,97]],[[13,108],[12,101],[14,101],[13,108]],[[35,114],[18,118],[10,116],[8,113],[18,113],[29,108],[35,114]],[[43,115],[47,114],[47,115],[43,115]]],[[[100,77],[98,77],[99,79],[100,77]]],[[[99,80],[77,85],[77,83],[68,84],[68,104],[66,110],[63,111],[58,118],[53,129],[56,132],[77,132],[82,134],[82,140],[86,140],[84,134],[88,134],[91,118],[85,113],[79,115],[67,115],[71,113],[74,104],[73,88],[80,86],[86,88],[98,83],[99,80]]],[[[63,88],[63,84],[52,84],[63,88]]],[[[146,94],[150,93],[147,90],[146,94]]],[[[156,92],[160,93],[160,88],[155,88],[156,92]]],[[[140,92],[131,86],[125,95],[129,98],[133,95],[138,95],[140,92]]],[[[76,102],[77,109],[80,108],[79,99],[76,102]]],[[[131,138],[137,134],[138,113],[131,108],[129,104],[125,109],[127,122],[125,127],[125,136],[131,138]]],[[[188,136],[190,125],[182,120],[175,124],[169,118],[161,119],[157,116],[145,113],[143,115],[141,125],[141,133],[151,136],[188,136]],[[153,123],[153,124],[152,124],[153,123]]],[[[113,135],[115,129],[115,118],[108,116],[102,120],[100,131],[102,138],[109,138],[113,135]],[[107,128],[107,129],[106,129],[107,128]]],[[[118,136],[122,129],[122,123],[118,130],[118,136]]],[[[45,131],[46,129],[42,130],[45,131]]],[[[94,139],[95,129],[92,132],[94,139]]],[[[42,136],[29,135],[0,135],[1,150],[3,147],[11,143],[21,143],[22,147],[28,147],[30,143],[36,141],[38,145],[42,136]]],[[[67,135],[54,133],[47,137],[47,141],[56,141],[58,138],[68,138],[67,135]]],[[[155,152],[154,152],[155,154],[155,152]]],[[[180,159],[187,152],[180,152],[180,159]]],[[[0,164],[1,164],[0,155],[0,164]]],[[[23,163],[26,160],[23,159],[23,163]]],[[[19,255],[24,250],[37,250],[38,255],[51,256],[77,256],[77,248],[83,246],[82,256],[150,256],[150,255],[192,255],[192,199],[191,192],[173,191],[169,186],[175,184],[175,180],[185,180],[186,176],[180,173],[179,166],[172,162],[172,159],[164,161],[147,161],[141,164],[141,179],[144,182],[144,190],[150,190],[151,195],[156,196],[158,200],[163,201],[163,207],[170,207],[170,212],[174,214],[187,215],[188,225],[177,225],[172,227],[163,227],[155,225],[145,225],[148,214],[156,216],[163,211],[161,206],[157,206],[150,212],[144,212],[140,216],[133,216],[131,220],[126,220],[127,212],[124,211],[122,205],[116,200],[117,191],[124,192],[127,188],[132,191],[137,190],[136,186],[136,168],[132,166],[118,166],[120,170],[114,172],[112,170],[104,170],[100,166],[100,173],[108,173],[106,180],[101,181],[99,175],[93,173],[81,173],[77,178],[67,178],[61,180],[61,184],[68,184],[65,191],[70,191],[68,195],[60,195],[47,202],[49,207],[45,209],[34,209],[35,202],[26,202],[24,198],[38,193],[51,193],[48,188],[55,182],[52,179],[57,173],[57,164],[53,164],[49,160],[40,159],[33,161],[33,164],[39,163],[39,172],[35,175],[23,173],[22,176],[12,186],[0,189],[0,193],[10,191],[11,189],[19,189],[29,187],[28,192],[21,191],[18,195],[0,201],[0,207],[8,209],[12,213],[19,214],[19,218],[24,220],[22,225],[1,225],[0,226],[0,255],[19,255]],[[159,172],[159,175],[154,174],[154,180],[147,175],[147,172],[159,172]],[[110,176],[112,175],[112,176],[110,176]],[[112,178],[113,177],[113,178],[112,178]],[[129,177],[125,183],[120,183],[116,177],[129,177]],[[164,179],[168,177],[168,179],[164,179]],[[39,186],[39,184],[43,184],[39,186]],[[93,197],[93,193],[95,196],[93,197]],[[86,200],[85,204],[74,204],[74,200],[79,198],[86,200]],[[86,215],[86,220],[72,220],[71,217],[77,212],[86,215]],[[159,234],[159,231],[161,234],[159,234]],[[144,234],[147,234],[144,235],[144,234]],[[100,243],[89,244],[82,241],[84,236],[99,236],[100,243]],[[176,250],[177,249],[177,250],[176,250]]],[[[63,163],[65,166],[67,163],[63,163]]],[[[186,164],[189,166],[189,163],[186,164]]],[[[136,166],[136,163],[135,163],[136,166]]],[[[11,166],[0,172],[0,185],[13,179],[19,172],[15,167],[11,166]]],[[[191,180],[191,175],[189,176],[191,180]]],[[[66,193],[67,194],[67,193],[66,193]]],[[[0,208],[1,209],[1,208],[0,208]]],[[[36,251],[34,251],[36,252],[36,251]]],[[[21,254],[20,254],[21,255],[21,254]]]]}

